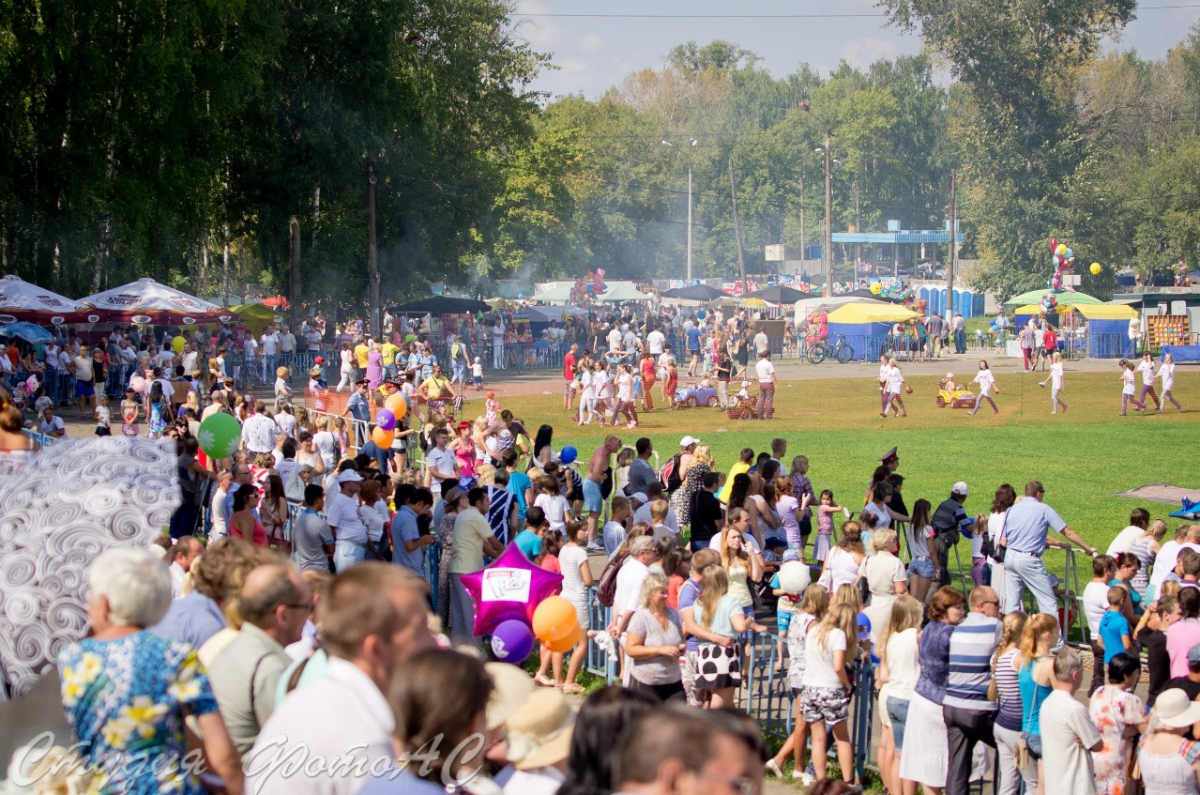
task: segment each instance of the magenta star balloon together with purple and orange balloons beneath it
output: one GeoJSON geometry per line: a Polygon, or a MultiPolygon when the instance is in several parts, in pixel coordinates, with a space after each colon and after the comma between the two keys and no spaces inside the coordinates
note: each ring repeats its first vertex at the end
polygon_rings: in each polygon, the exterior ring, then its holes
{"type": "Polygon", "coordinates": [[[534,566],[516,544],[479,572],[464,574],[462,585],[475,603],[475,635],[492,636],[492,653],[521,664],[533,651],[534,638],[551,651],[571,648],[583,636],[575,606],[553,596],[562,574],[534,566]]]}

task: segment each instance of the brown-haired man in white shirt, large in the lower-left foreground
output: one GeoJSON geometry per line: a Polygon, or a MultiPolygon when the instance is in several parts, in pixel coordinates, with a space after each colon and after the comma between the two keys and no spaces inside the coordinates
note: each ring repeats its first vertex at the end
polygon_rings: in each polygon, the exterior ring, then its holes
{"type": "MultiPolygon", "coordinates": [[[[384,693],[406,659],[433,646],[427,586],[398,566],[368,562],[340,573],[322,599],[325,676],[276,705],[244,759],[256,795],[354,795],[391,766],[395,718],[384,693]],[[364,604],[376,605],[364,611],[364,604]],[[295,760],[326,760],[301,770],[295,760]]],[[[410,772],[413,795],[445,790],[410,772]]],[[[408,778],[404,778],[408,777],[408,778]]]]}

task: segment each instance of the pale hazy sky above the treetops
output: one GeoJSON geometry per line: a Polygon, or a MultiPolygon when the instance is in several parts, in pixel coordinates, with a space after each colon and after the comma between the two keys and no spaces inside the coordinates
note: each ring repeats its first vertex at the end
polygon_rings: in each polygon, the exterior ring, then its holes
{"type": "MultiPolygon", "coordinates": [[[[757,53],[760,66],[776,77],[803,62],[827,74],[842,60],[865,67],[922,47],[919,36],[889,28],[875,0],[517,0],[516,10],[517,34],[551,53],[558,66],[532,86],[551,98],[595,100],[630,72],[661,67],[672,47],[690,40],[732,41],[757,53]]],[[[1198,19],[1200,0],[1145,0],[1121,38],[1105,48],[1158,59],[1198,19]]]]}

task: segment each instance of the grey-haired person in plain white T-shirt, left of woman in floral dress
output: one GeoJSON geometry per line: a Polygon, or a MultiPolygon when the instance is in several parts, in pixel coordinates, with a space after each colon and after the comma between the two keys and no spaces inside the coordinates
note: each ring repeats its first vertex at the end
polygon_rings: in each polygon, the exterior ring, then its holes
{"type": "Polygon", "coordinates": [[[1054,692],[1042,703],[1042,770],[1045,790],[1056,795],[1096,795],[1090,752],[1103,748],[1104,740],[1087,707],[1075,700],[1082,671],[1079,652],[1060,651],[1054,660],[1054,692]]]}

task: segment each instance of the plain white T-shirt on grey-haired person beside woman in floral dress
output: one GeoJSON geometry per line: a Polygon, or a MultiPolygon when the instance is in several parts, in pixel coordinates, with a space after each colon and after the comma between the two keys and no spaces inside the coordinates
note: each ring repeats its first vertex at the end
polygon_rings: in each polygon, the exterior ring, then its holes
{"type": "Polygon", "coordinates": [[[1092,746],[1100,733],[1087,707],[1066,691],[1042,703],[1042,766],[1046,790],[1055,795],[1096,795],[1092,746]]]}

